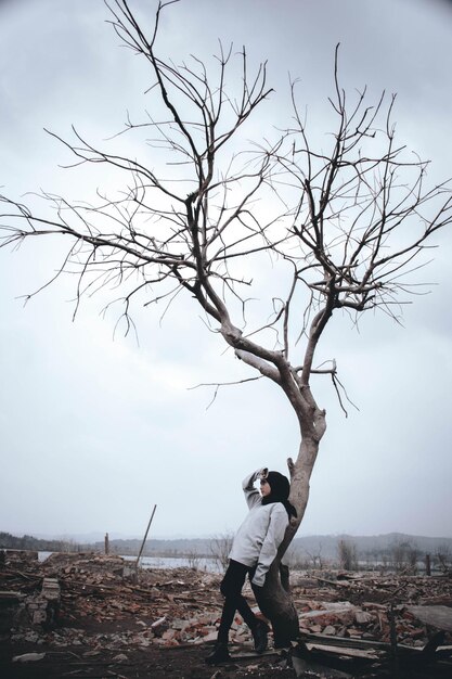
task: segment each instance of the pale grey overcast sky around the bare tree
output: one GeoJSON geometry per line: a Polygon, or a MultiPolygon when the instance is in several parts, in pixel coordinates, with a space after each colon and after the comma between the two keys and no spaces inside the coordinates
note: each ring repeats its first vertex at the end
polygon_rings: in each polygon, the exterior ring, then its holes
{"type": "MultiPolygon", "coordinates": [[[[134,2],[150,15],[153,2],[134,2]]],[[[43,132],[93,141],[121,129],[126,110],[152,110],[151,78],[119,47],[98,0],[0,2],[0,185],[13,197],[40,188],[85,198],[90,170],[43,132]]],[[[398,92],[401,140],[450,167],[452,3],[439,0],[182,0],[166,13],[160,53],[209,60],[218,38],[269,60],[275,89],[249,136],[287,125],[288,77],[299,77],[313,133],[327,131],[326,98],[340,41],[350,90],[398,92]]],[[[128,143],[122,142],[121,143],[128,143]]],[[[132,146],[130,146],[132,150],[132,146]]],[[[113,181],[103,177],[106,185],[113,181]]],[[[96,181],[96,180],[95,180],[96,181]]],[[[334,319],[319,362],[336,358],[360,411],[345,419],[326,382],[314,382],[327,432],[300,535],[392,530],[452,536],[450,233],[419,273],[431,293],[406,307],[401,328],[370,313],[358,333],[334,319]]],[[[87,300],[72,321],[74,282],[20,297],[55,270],[61,243],[0,253],[0,530],[141,535],[157,503],[156,536],[234,530],[241,479],[267,465],[285,471],[298,448],[295,417],[271,384],[211,390],[199,383],[250,376],[208,333],[195,306],[138,309],[140,345],[114,334],[115,318],[87,300]]]]}

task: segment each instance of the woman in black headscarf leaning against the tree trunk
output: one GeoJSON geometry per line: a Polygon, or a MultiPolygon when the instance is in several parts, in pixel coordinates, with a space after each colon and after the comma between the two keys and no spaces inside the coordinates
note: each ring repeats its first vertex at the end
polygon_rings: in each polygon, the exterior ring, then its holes
{"type": "Polygon", "coordinates": [[[220,585],[224,597],[223,611],[214,651],[206,657],[208,665],[216,665],[230,658],[228,651],[229,630],[238,611],[251,630],[257,653],[267,649],[268,626],[253,613],[242,588],[246,576],[253,587],[263,587],[277,548],[283,541],[290,516],[296,516],[288,501],[290,485],[286,476],[279,472],[258,470],[243,482],[245,499],[249,512],[238,528],[229,554],[229,566],[220,585]],[[260,494],[254,484],[260,479],[260,494]]]}

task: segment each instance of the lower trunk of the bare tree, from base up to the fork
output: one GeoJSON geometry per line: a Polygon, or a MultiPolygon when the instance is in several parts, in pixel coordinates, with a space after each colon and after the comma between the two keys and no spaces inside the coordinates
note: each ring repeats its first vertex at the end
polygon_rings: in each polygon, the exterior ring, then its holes
{"type": "Polygon", "coordinates": [[[296,535],[305,515],[309,498],[309,479],[319,450],[319,441],[318,437],[305,437],[296,462],[289,461],[290,501],[297,510],[297,517],[292,520],[287,527],[277,556],[267,574],[264,586],[253,588],[259,608],[271,623],[276,648],[288,646],[290,641],[296,640],[299,635],[298,613],[288,587],[288,572],[281,565],[281,558],[296,535]]]}

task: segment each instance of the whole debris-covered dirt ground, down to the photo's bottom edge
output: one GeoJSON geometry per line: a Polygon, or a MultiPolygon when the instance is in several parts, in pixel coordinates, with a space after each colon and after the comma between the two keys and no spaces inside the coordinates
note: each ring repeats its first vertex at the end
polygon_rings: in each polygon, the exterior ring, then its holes
{"type": "Polygon", "coordinates": [[[231,662],[209,667],[219,581],[191,569],[142,571],[137,579],[116,556],[55,554],[38,563],[10,554],[0,566],[0,677],[452,677],[452,630],[435,623],[438,612],[445,627],[449,612],[452,619],[449,577],[294,573],[304,643],[274,650],[270,640],[258,656],[237,616],[231,662]],[[417,617],[425,611],[435,624],[417,617]],[[423,649],[439,633],[440,649],[429,656],[423,649]]]}

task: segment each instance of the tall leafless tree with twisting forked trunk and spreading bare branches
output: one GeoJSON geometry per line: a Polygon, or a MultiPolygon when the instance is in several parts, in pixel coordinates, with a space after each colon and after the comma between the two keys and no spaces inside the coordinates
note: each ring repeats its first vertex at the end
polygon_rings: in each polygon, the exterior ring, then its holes
{"type": "Polygon", "coordinates": [[[107,3],[113,28],[154,78],[155,113],[128,119],[122,131],[145,131],[168,167],[95,148],[74,129],[73,141],[61,141],[76,164],[116,168],[125,176],[121,193],[99,193],[93,205],[43,193],[53,213],[41,214],[2,196],[3,245],[65,238],[59,274],[78,271],[77,305],[83,294],[119,290],[109,304],[124,304],[127,329],[134,300],[169,305],[184,294],[255,379],[272,381],[285,395],[300,434],[298,454],[288,459],[297,518],[257,592],[281,645],[297,636],[298,617],[281,587],[279,562],[304,517],[326,426],[312,377],[331,379],[345,409],[335,362],[315,367],[319,342],[334,313],[358,319],[380,309],[397,317],[427,242],[451,222],[451,192],[445,183],[425,187],[426,163],[397,144],[393,99],[382,97],[373,106],[364,90],[348,103],[337,59],[330,149],[310,141],[295,84],[293,124],[273,142],[247,145],[241,130],[271,92],[266,64],[251,75],[243,49],[233,90],[234,78],[227,77],[237,63],[232,49],[220,49],[214,69],[197,57],[181,65],[160,57],[159,20],[169,4],[158,4],[147,35],[127,0],[107,3]],[[249,315],[247,291],[262,255],[273,261],[275,278],[271,313],[259,321],[254,309],[249,315]]]}

